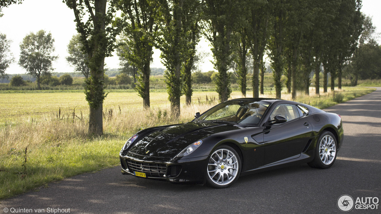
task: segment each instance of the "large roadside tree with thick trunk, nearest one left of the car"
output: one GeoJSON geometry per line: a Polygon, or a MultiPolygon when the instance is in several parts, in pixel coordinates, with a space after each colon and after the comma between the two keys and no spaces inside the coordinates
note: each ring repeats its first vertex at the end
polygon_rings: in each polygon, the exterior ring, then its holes
{"type": "Polygon", "coordinates": [[[88,55],[90,77],[85,80],[86,101],[90,107],[89,134],[103,134],[102,107],[106,94],[104,85],[104,58],[112,56],[118,27],[114,22],[114,7],[106,11],[107,0],[64,0],[74,11],[77,32],[83,45],[83,52],[88,55]],[[88,17],[87,17],[88,16],[88,17]]]}

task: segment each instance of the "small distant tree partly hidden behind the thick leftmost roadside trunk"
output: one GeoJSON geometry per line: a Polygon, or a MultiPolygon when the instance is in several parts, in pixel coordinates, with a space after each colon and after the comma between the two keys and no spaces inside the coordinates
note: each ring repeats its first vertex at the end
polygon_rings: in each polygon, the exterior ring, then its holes
{"type": "Polygon", "coordinates": [[[67,45],[67,53],[69,53],[69,56],[66,57],[66,61],[74,67],[75,72],[82,73],[87,79],[90,73],[90,69],[87,66],[88,54],[83,52],[83,45],[80,37],[80,34],[73,35],[67,45]]]}

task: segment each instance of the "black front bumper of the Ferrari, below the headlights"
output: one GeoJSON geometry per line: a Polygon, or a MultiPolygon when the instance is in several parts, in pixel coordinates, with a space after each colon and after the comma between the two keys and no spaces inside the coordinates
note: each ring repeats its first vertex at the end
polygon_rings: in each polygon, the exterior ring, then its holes
{"type": "MultiPolygon", "coordinates": [[[[203,184],[208,156],[166,161],[168,158],[139,157],[127,153],[119,155],[122,174],[135,176],[134,171],[144,172],[147,179],[168,181],[176,184],[203,184]]],[[[136,176],[138,177],[138,176],[136,176]]],[[[144,178],[144,177],[141,177],[144,178]]]]}

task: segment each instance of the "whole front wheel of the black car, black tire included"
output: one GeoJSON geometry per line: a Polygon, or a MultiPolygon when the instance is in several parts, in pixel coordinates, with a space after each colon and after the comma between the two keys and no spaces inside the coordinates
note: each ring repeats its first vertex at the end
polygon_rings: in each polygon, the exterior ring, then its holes
{"type": "Polygon", "coordinates": [[[238,180],[241,174],[241,159],[232,147],[221,145],[212,152],[205,171],[207,185],[226,188],[238,180]]]}

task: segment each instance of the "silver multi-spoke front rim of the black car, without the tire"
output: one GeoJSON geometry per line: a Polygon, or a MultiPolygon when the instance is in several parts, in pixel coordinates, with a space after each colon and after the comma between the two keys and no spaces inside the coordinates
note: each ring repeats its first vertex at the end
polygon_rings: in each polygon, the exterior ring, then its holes
{"type": "Polygon", "coordinates": [[[208,176],[217,185],[226,185],[234,180],[238,173],[238,160],[228,149],[213,152],[208,163],[208,176]]]}

